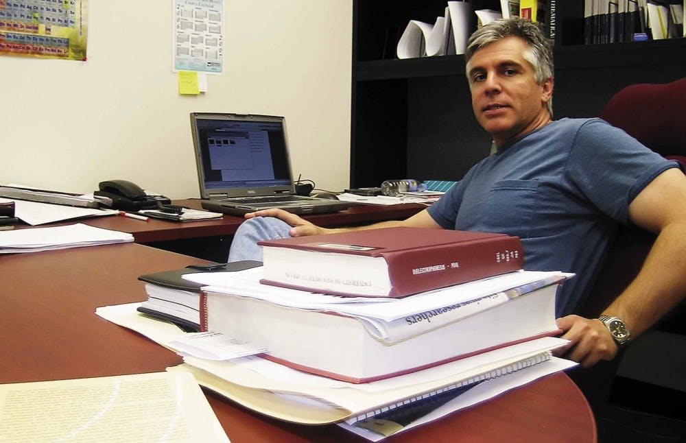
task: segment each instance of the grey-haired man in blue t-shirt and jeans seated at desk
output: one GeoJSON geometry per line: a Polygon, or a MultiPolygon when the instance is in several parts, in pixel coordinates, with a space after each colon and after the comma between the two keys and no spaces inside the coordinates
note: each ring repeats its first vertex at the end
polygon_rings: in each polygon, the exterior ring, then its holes
{"type": "MultiPolygon", "coordinates": [[[[600,320],[571,313],[584,301],[617,223],[659,237],[637,278],[603,315],[623,320],[633,338],[683,298],[686,177],[676,163],[600,119],[552,121],[552,48],[533,23],[510,19],[478,29],[465,58],[473,111],[495,152],[421,213],[349,230],[414,226],[517,235],[526,269],[576,273],[556,304],[562,337],[571,341],[569,358],[584,367],[611,360],[623,340],[600,320]]],[[[230,260],[260,259],[258,239],[346,230],[279,210],[246,218],[230,260]]]]}

